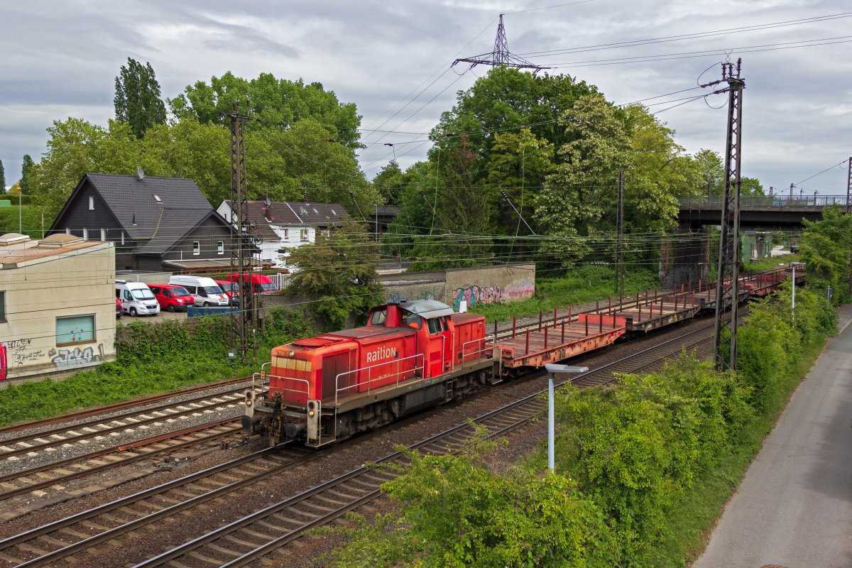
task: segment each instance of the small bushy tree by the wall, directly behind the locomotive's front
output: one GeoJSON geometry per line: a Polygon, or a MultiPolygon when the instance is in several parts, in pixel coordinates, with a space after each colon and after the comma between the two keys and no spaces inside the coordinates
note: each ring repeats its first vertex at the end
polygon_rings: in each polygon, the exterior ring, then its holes
{"type": "Polygon", "coordinates": [[[377,248],[363,225],[346,221],[337,231],[290,253],[287,263],[296,273],[287,293],[316,299],[312,306],[331,330],[343,329],[350,316],[363,320],[384,300],[377,282],[377,248]]]}

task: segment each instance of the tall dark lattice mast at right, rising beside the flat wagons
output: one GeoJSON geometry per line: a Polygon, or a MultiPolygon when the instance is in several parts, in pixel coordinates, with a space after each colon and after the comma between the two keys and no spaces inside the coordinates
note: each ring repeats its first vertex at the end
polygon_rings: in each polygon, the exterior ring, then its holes
{"type": "MultiPolygon", "coordinates": [[[[740,77],[742,60],[722,64],[722,81],[728,83],[728,137],[725,148],[725,189],[722,194],[722,226],[716,283],[716,336],[713,363],[718,370],[737,368],[737,315],[740,263],[740,157],[742,149],[742,94],[746,81],[740,77]],[[727,67],[727,74],[726,74],[727,67]],[[726,76],[727,75],[727,76],[726,76]],[[730,307],[728,318],[726,309],[730,307]]],[[[721,83],[721,82],[714,82],[721,83]]]]}

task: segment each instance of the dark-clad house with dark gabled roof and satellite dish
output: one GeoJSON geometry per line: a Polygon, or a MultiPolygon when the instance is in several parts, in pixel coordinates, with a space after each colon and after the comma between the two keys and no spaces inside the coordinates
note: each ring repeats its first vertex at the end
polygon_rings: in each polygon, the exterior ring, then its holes
{"type": "Polygon", "coordinates": [[[86,174],[50,227],[115,244],[116,270],[227,271],[230,223],[192,180],[86,174]]]}

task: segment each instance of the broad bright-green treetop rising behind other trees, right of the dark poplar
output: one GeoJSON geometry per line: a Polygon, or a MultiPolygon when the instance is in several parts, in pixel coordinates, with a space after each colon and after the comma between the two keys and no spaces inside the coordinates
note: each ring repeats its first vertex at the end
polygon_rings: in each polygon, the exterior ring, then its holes
{"type": "Polygon", "coordinates": [[[231,112],[233,102],[246,98],[260,119],[248,123],[247,130],[287,130],[304,118],[314,118],[325,129],[325,139],[334,139],[350,150],[361,147],[361,117],[355,105],[340,102],[322,83],[306,85],[302,79],[288,81],[272,73],[247,80],[226,72],[222,77],[210,77],[210,83],[187,85],[181,95],[169,99],[169,106],[180,120],[192,117],[200,123],[223,123],[222,113],[231,112]]]}

